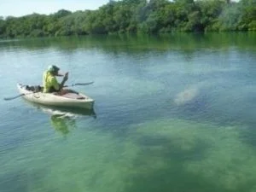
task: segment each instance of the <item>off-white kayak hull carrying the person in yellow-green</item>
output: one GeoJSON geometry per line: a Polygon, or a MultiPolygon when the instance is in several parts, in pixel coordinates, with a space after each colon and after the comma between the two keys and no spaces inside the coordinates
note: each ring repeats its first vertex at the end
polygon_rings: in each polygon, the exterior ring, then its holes
{"type": "Polygon", "coordinates": [[[69,90],[67,94],[60,96],[55,93],[44,93],[40,86],[17,84],[17,87],[20,95],[27,101],[46,106],[91,109],[94,105],[93,99],[74,90],[69,90]]]}

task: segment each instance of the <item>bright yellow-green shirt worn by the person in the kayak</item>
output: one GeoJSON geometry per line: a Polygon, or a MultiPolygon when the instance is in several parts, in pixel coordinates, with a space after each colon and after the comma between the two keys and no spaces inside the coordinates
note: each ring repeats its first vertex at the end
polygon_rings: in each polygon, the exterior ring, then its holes
{"type": "Polygon", "coordinates": [[[54,88],[55,90],[60,90],[60,84],[58,83],[56,77],[49,73],[49,71],[44,72],[43,77],[44,84],[44,93],[49,93],[50,88],[54,88]]]}

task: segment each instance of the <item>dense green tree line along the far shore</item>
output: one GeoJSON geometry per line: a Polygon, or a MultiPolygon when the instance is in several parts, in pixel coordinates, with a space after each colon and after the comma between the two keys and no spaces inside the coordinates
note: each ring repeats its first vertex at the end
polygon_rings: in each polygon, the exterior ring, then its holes
{"type": "Polygon", "coordinates": [[[96,10],[0,17],[0,38],[256,31],[256,0],[110,0],[96,10]]]}

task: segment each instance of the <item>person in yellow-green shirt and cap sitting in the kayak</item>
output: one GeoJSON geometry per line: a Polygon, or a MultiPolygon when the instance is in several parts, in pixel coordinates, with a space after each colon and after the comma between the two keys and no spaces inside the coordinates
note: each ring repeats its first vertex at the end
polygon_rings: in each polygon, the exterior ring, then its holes
{"type": "Polygon", "coordinates": [[[53,93],[58,92],[60,95],[65,94],[67,91],[62,90],[65,82],[68,79],[68,73],[65,73],[64,78],[61,81],[61,84],[58,83],[56,76],[62,77],[62,74],[59,74],[59,67],[49,66],[48,70],[44,72],[43,84],[44,84],[44,93],[53,93]]]}

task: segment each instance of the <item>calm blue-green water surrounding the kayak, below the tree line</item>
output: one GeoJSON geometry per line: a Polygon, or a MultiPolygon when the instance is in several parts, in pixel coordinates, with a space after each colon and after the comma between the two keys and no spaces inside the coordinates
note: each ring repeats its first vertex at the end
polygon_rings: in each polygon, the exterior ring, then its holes
{"type": "Polygon", "coordinates": [[[256,190],[255,33],[0,42],[0,191],[256,190]],[[50,64],[96,100],[32,105],[50,64]]]}

